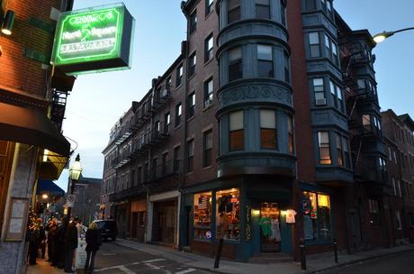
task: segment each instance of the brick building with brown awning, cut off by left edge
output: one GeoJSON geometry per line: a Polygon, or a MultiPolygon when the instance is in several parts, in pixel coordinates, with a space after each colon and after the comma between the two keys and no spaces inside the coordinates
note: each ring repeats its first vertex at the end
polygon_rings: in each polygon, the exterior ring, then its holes
{"type": "Polygon", "coordinates": [[[69,157],[61,134],[75,78],[49,66],[56,20],[73,1],[0,2],[0,265],[23,273],[27,213],[38,179],[57,179],[69,157]],[[8,24],[6,24],[8,23],[8,24]],[[12,23],[12,24],[10,24],[12,23]]]}

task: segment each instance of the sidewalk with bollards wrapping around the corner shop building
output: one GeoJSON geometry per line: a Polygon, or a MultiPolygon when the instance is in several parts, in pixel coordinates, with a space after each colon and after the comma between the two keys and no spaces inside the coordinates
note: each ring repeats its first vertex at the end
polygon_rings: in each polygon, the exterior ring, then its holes
{"type": "Polygon", "coordinates": [[[176,251],[171,248],[157,246],[152,244],[144,244],[132,242],[129,240],[117,239],[117,244],[148,252],[153,255],[164,257],[168,260],[175,260],[194,269],[210,270],[217,273],[228,274],[251,274],[251,273],[272,273],[272,274],[303,274],[314,273],[320,270],[334,269],[347,264],[352,264],[364,260],[372,260],[375,258],[385,257],[394,253],[404,251],[414,251],[413,245],[401,245],[390,249],[377,249],[373,251],[363,251],[355,254],[347,254],[346,252],[338,253],[338,263],[334,262],[333,253],[320,253],[307,256],[307,271],[301,270],[300,262],[284,262],[277,264],[254,264],[237,262],[232,260],[220,260],[220,268],[213,269],[214,259],[193,254],[191,252],[176,251]]]}

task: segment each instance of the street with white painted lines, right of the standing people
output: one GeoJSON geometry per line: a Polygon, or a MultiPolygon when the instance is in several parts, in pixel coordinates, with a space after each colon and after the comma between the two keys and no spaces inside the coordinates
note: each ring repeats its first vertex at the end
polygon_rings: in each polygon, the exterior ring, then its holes
{"type": "Polygon", "coordinates": [[[204,274],[210,271],[194,269],[174,260],[144,251],[120,246],[114,242],[103,242],[95,258],[96,273],[103,274],[204,274]]]}

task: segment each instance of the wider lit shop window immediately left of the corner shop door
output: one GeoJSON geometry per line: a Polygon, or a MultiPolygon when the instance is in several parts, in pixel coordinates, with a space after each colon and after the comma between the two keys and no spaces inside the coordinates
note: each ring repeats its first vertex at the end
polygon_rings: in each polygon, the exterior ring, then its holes
{"type": "Polygon", "coordinates": [[[238,241],[240,238],[240,199],[238,188],[217,191],[216,200],[217,239],[238,241]]]}

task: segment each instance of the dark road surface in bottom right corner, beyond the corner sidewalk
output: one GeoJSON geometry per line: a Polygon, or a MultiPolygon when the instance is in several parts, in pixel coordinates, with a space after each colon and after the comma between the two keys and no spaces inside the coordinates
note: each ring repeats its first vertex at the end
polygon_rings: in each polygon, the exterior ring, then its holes
{"type": "Polygon", "coordinates": [[[413,274],[414,251],[397,253],[386,258],[365,260],[339,269],[320,271],[321,274],[413,274]]]}

